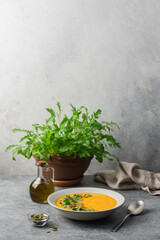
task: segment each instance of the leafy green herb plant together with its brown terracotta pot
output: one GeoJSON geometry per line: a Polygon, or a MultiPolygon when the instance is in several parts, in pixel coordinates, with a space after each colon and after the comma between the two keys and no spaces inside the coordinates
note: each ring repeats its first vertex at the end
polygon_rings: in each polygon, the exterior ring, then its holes
{"type": "MultiPolygon", "coordinates": [[[[5,151],[12,149],[13,160],[21,154],[36,161],[43,160],[54,168],[56,186],[73,185],[80,182],[90,161],[95,157],[100,163],[104,158],[113,161],[118,158],[111,154],[109,147],[120,147],[111,135],[113,122],[100,122],[101,110],[92,114],[84,106],[75,108],[71,105],[70,117],[61,117],[61,105],[57,102],[58,112],[46,108],[50,113],[45,124],[33,124],[33,130],[15,128],[13,132],[23,132],[19,144],[9,145],[5,151]]],[[[119,128],[119,127],[118,127],[119,128]]]]}

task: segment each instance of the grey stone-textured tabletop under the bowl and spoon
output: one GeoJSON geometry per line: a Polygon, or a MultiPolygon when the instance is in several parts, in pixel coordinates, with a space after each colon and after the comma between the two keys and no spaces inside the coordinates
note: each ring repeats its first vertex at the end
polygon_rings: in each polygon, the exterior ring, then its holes
{"type": "MultiPolygon", "coordinates": [[[[48,204],[32,202],[28,188],[33,179],[33,176],[0,176],[0,240],[160,239],[160,196],[150,196],[141,190],[119,191],[126,201],[111,216],[97,221],[74,221],[61,216],[48,204]],[[118,232],[111,232],[125,216],[128,205],[138,199],[145,203],[143,213],[130,217],[118,232]],[[50,214],[48,225],[37,228],[30,224],[27,214],[36,211],[50,214]],[[46,233],[50,225],[57,226],[58,231],[46,233]]],[[[93,176],[85,176],[75,187],[109,189],[105,184],[94,182],[93,176]]],[[[56,191],[60,189],[56,187],[56,191]]]]}

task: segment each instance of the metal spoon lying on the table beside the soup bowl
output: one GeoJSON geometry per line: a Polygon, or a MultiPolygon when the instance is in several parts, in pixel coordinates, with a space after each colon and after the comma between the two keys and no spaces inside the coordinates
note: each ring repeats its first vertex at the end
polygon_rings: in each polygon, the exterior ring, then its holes
{"type": "Polygon", "coordinates": [[[131,203],[131,205],[129,205],[128,207],[127,215],[125,216],[125,218],[116,226],[114,226],[111,231],[116,232],[130,215],[138,215],[143,211],[143,209],[144,209],[143,201],[140,200],[140,201],[131,203]]]}

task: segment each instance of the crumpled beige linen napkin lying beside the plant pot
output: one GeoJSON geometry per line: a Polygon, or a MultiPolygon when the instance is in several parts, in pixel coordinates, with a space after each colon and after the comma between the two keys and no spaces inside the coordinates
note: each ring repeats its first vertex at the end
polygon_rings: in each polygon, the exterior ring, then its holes
{"type": "Polygon", "coordinates": [[[113,189],[143,189],[151,195],[160,195],[160,173],[142,170],[136,163],[120,162],[115,170],[94,173],[94,179],[113,189]]]}

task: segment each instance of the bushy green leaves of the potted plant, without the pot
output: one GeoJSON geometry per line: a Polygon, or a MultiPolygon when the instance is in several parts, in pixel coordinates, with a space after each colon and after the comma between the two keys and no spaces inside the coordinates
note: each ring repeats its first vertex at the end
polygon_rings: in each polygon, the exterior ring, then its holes
{"type": "Polygon", "coordinates": [[[111,135],[114,122],[100,122],[101,110],[92,114],[84,106],[76,108],[71,105],[70,117],[61,117],[61,104],[57,102],[58,111],[46,108],[49,118],[45,124],[33,124],[32,130],[14,129],[13,132],[23,132],[24,136],[19,144],[9,145],[5,151],[12,149],[13,160],[15,154],[21,154],[26,158],[39,157],[48,161],[51,154],[61,156],[78,156],[89,158],[95,156],[99,162],[104,158],[113,161],[118,158],[110,153],[110,148],[120,147],[120,143],[111,135]]]}

